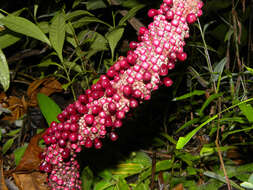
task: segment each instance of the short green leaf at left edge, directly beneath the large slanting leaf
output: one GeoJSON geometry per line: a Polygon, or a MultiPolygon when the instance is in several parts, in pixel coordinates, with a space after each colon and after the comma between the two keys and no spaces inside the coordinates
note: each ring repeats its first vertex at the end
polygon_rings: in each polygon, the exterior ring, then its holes
{"type": "Polygon", "coordinates": [[[0,32],[0,49],[7,48],[16,42],[18,42],[21,37],[8,29],[0,32]]]}

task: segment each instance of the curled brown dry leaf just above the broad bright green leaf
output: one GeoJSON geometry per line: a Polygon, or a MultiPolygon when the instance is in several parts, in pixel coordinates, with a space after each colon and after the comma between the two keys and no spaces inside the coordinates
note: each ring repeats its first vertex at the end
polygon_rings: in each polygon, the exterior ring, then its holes
{"type": "Polygon", "coordinates": [[[29,106],[37,105],[37,94],[43,93],[50,96],[52,93],[61,92],[63,89],[61,83],[54,77],[44,78],[32,82],[27,90],[27,96],[29,97],[29,106]]]}

